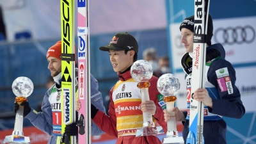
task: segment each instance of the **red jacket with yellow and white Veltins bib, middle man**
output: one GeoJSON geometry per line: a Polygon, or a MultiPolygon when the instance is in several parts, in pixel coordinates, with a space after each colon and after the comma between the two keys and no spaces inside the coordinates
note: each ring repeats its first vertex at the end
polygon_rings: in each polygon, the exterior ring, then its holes
{"type": "MultiPolygon", "coordinates": [[[[128,69],[123,74],[118,72],[119,81],[111,88],[110,104],[108,115],[98,111],[93,122],[111,136],[115,136],[116,143],[132,143],[132,144],[146,144],[146,143],[161,143],[157,136],[140,136],[135,137],[136,129],[143,127],[143,114],[140,109],[141,93],[137,87],[137,82],[131,77],[128,69]]],[[[164,131],[166,131],[166,122],[164,122],[163,109],[159,106],[157,95],[161,95],[157,91],[157,77],[152,76],[148,81],[150,86],[148,93],[150,100],[156,104],[156,114],[153,116],[154,120],[160,124],[164,131]]]]}

